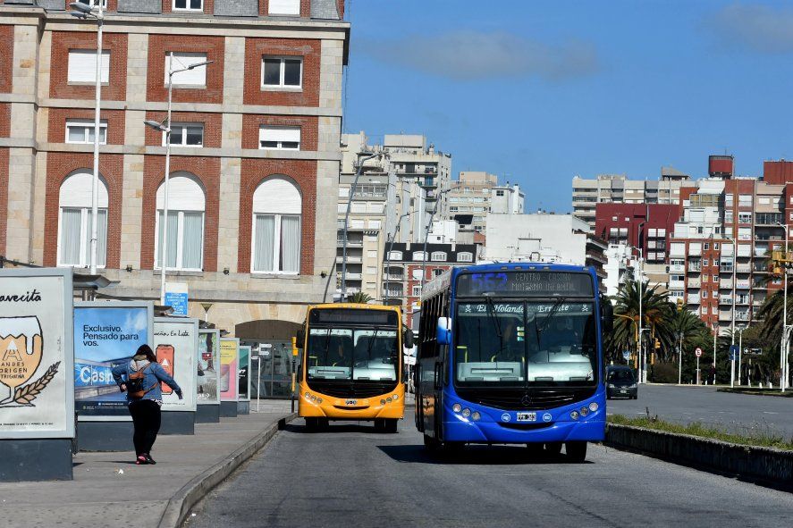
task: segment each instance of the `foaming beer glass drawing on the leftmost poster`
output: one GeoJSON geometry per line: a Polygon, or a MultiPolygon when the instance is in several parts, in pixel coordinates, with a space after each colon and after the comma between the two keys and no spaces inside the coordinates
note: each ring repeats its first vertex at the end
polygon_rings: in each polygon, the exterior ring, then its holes
{"type": "Polygon", "coordinates": [[[0,404],[36,373],[41,363],[41,324],[36,316],[0,317],[0,404]]]}

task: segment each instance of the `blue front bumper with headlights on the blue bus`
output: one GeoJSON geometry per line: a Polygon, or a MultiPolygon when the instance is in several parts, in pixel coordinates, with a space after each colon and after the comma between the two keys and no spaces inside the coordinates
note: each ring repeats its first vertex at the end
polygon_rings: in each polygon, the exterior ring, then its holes
{"type": "MultiPolygon", "coordinates": [[[[454,400],[454,398],[450,398],[454,400]]],[[[527,443],[565,441],[603,441],[606,428],[605,397],[601,393],[593,398],[547,411],[531,411],[536,414],[533,422],[518,422],[519,413],[524,411],[502,411],[483,407],[460,399],[450,402],[443,409],[443,440],[472,443],[527,443]],[[570,413],[590,403],[598,406],[595,412],[578,416],[570,413]],[[474,421],[451,410],[451,405],[460,403],[471,415],[476,411],[481,418],[474,421]]]]}

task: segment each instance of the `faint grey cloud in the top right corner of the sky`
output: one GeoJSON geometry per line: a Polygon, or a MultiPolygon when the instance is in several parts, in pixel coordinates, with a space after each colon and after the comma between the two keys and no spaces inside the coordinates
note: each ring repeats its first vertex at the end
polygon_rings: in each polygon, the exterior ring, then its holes
{"type": "Polygon", "coordinates": [[[793,52],[793,8],[731,4],[716,13],[708,26],[725,46],[769,54],[793,52]]]}

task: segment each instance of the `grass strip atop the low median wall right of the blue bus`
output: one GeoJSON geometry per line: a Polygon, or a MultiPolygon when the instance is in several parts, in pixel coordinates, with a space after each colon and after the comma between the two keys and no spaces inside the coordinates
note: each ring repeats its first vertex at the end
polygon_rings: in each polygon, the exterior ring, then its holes
{"type": "Polygon", "coordinates": [[[645,429],[652,429],[654,431],[673,432],[678,434],[688,434],[710,440],[721,440],[723,442],[730,442],[732,444],[740,444],[742,446],[752,446],[758,448],[777,448],[793,450],[793,438],[785,440],[781,435],[773,434],[772,432],[757,431],[750,434],[736,434],[732,432],[725,432],[713,427],[704,425],[702,423],[694,422],[687,425],[679,423],[666,422],[659,419],[657,416],[642,416],[637,418],[630,418],[625,415],[611,415],[608,418],[609,423],[618,425],[633,425],[635,427],[644,427],[645,429]]]}

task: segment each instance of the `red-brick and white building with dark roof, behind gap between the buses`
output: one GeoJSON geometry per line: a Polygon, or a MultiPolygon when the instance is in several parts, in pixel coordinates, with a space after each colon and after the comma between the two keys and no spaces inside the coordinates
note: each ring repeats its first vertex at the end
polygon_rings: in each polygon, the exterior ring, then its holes
{"type": "Polygon", "coordinates": [[[404,319],[410,325],[421,301],[424,282],[442,274],[453,265],[474,264],[477,247],[473,244],[424,244],[400,242],[390,246],[384,263],[384,301],[404,306],[404,319]]]}

